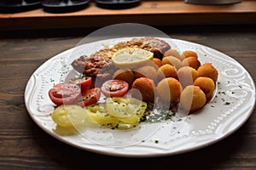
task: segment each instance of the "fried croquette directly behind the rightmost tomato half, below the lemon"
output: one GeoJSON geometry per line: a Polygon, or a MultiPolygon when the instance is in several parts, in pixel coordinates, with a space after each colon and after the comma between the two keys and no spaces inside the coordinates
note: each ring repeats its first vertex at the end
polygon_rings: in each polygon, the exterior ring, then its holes
{"type": "Polygon", "coordinates": [[[134,81],[134,74],[130,69],[120,69],[113,73],[113,79],[123,80],[131,85],[134,81]]]}

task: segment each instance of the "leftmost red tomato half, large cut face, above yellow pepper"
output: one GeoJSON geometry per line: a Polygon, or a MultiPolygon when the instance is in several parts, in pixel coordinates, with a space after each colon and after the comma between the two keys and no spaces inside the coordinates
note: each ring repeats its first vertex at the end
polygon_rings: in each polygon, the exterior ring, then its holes
{"type": "Polygon", "coordinates": [[[70,105],[76,103],[80,96],[79,86],[73,83],[59,83],[49,89],[49,99],[55,105],[70,105]]]}

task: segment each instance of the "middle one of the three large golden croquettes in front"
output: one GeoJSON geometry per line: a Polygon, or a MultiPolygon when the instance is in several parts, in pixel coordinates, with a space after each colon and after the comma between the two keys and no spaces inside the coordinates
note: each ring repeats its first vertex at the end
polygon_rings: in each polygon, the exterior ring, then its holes
{"type": "Polygon", "coordinates": [[[177,79],[168,77],[157,84],[156,94],[160,99],[169,103],[174,103],[179,100],[182,89],[183,88],[177,79]]]}

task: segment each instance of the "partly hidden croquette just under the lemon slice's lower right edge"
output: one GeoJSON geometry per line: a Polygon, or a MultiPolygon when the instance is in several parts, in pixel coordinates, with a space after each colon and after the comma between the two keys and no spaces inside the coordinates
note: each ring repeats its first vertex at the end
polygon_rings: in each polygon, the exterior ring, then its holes
{"type": "Polygon", "coordinates": [[[147,77],[149,79],[154,80],[156,78],[156,70],[153,66],[145,65],[143,67],[139,67],[133,71],[135,78],[147,77]]]}

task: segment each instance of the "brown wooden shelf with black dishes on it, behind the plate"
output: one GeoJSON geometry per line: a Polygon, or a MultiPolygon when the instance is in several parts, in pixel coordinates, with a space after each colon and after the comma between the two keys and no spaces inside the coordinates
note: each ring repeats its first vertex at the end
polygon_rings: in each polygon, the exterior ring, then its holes
{"type": "Polygon", "coordinates": [[[143,1],[127,9],[99,8],[91,2],[83,10],[51,14],[43,8],[0,14],[0,30],[81,28],[133,22],[151,26],[196,24],[256,24],[256,1],[230,5],[195,5],[182,0],[143,1]]]}

